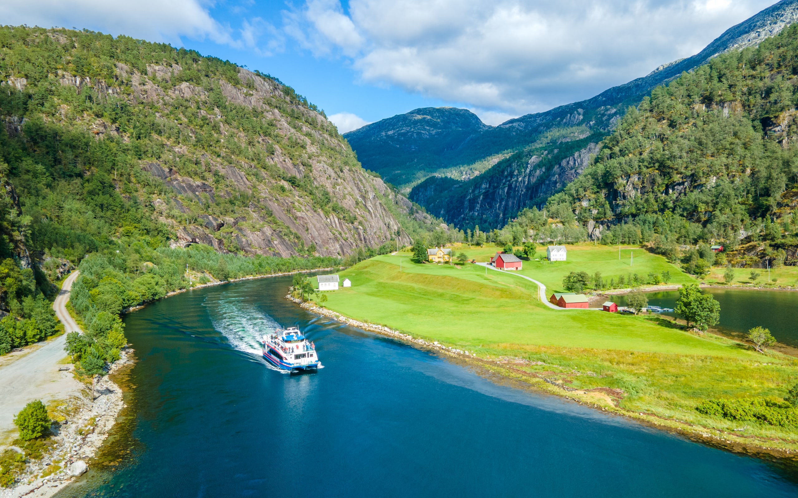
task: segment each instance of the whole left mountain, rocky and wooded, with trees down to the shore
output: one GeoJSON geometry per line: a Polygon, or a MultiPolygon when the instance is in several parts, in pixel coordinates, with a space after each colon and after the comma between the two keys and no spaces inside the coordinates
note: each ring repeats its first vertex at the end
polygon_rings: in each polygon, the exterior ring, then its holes
{"type": "Polygon", "coordinates": [[[55,331],[45,295],[76,265],[87,330],[67,342],[101,365],[124,345],[124,308],[432,229],[448,227],[274,77],[124,36],[0,27],[0,355],[55,331]]]}

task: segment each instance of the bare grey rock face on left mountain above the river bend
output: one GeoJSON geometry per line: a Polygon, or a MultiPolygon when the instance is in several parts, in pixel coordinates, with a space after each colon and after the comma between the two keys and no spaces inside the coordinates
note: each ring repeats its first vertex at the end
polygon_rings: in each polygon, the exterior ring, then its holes
{"type": "MultiPolygon", "coordinates": [[[[180,70],[148,65],[144,75],[117,65],[117,74],[130,81],[133,104],[165,108],[174,99],[195,101],[203,119],[218,124],[222,140],[252,146],[252,136],[226,124],[224,110],[207,108],[206,89],[186,82],[162,88],[180,70]]],[[[205,244],[219,251],[283,257],[345,256],[397,237],[401,244],[412,243],[393,213],[437,225],[381,178],[367,174],[325,116],[290,100],[275,80],[247,69],[239,69],[239,80],[243,86],[219,80],[219,91],[228,104],[251,109],[274,125],[271,136],[255,139],[255,147],[270,152],[262,163],[192,154],[182,145],[172,146],[164,160],[140,163],[152,182],[169,193],[151,202],[156,217],[175,233],[172,246],[205,244]],[[290,151],[296,144],[301,155],[290,151]],[[187,158],[196,169],[180,166],[187,158]]]]}

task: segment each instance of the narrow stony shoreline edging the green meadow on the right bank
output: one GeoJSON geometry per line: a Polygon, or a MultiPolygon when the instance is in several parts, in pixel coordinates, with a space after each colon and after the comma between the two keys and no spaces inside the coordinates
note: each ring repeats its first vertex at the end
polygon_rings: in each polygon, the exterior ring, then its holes
{"type": "Polygon", "coordinates": [[[752,441],[752,437],[741,436],[729,431],[710,429],[700,425],[692,425],[686,422],[683,423],[677,420],[661,418],[655,414],[630,412],[615,406],[612,402],[612,397],[615,393],[606,392],[606,388],[577,390],[557,382],[553,382],[539,374],[523,371],[517,368],[518,365],[531,363],[527,359],[511,358],[505,356],[500,356],[497,358],[483,358],[477,356],[474,351],[464,351],[455,347],[445,346],[437,341],[429,341],[426,339],[421,339],[420,337],[413,337],[413,335],[393,330],[389,327],[385,327],[384,325],[369,324],[367,322],[354,320],[347,316],[343,316],[341,313],[334,312],[327,308],[322,308],[313,302],[302,301],[294,296],[291,296],[290,294],[286,296],[286,299],[294,301],[294,303],[299,304],[300,307],[309,312],[326,316],[327,318],[336,320],[342,324],[347,324],[351,327],[357,327],[365,331],[372,331],[380,335],[387,335],[395,339],[400,339],[407,343],[411,343],[414,347],[420,347],[422,349],[443,353],[444,355],[448,355],[450,359],[456,359],[464,365],[478,368],[484,374],[491,374],[492,376],[495,376],[496,380],[507,380],[508,382],[514,382],[516,387],[520,387],[522,389],[533,389],[546,392],[547,394],[562,396],[564,398],[570,399],[571,401],[591,406],[597,410],[617,414],[626,418],[633,418],[634,420],[642,422],[646,425],[650,425],[651,427],[679,433],[693,441],[701,442],[706,445],[712,445],[721,449],[726,449],[734,453],[745,453],[760,457],[788,458],[791,460],[798,459],[798,445],[795,445],[795,441],[781,441],[788,442],[787,445],[778,445],[780,441],[771,441],[771,443],[775,444],[768,445],[768,443],[764,440],[752,441]],[[786,447],[788,445],[792,445],[794,447],[786,447]]]}

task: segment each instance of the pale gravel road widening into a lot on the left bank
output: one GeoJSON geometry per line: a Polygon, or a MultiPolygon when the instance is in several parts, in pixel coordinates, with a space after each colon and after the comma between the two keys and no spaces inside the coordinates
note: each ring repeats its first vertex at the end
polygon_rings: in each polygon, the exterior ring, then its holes
{"type": "MultiPolygon", "coordinates": [[[[53,303],[53,309],[67,333],[79,330],[75,320],[64,308],[77,274],[74,272],[64,280],[61,292],[58,292],[53,303]]],[[[73,378],[71,371],[58,371],[59,367],[66,367],[58,364],[66,356],[65,343],[66,334],[62,334],[14,363],[0,367],[0,442],[14,433],[14,415],[28,402],[41,399],[46,404],[49,400],[78,394],[83,389],[83,385],[73,378]]]]}

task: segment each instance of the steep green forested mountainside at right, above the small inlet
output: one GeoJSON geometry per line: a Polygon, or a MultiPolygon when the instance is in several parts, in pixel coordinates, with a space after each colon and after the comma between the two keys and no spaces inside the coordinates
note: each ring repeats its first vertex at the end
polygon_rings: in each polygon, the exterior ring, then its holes
{"type": "Polygon", "coordinates": [[[573,213],[602,241],[798,244],[796,76],[792,25],[654,88],[547,210],[573,213]]]}

